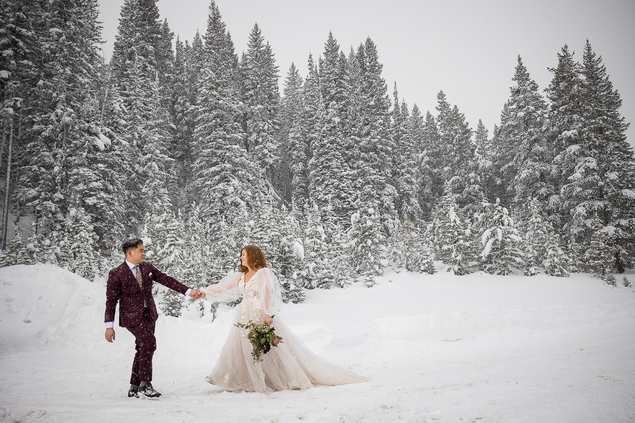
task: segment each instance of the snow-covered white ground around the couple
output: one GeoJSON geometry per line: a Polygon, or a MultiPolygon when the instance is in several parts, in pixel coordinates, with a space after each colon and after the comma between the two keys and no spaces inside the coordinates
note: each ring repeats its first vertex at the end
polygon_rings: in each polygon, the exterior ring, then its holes
{"type": "MultiPolygon", "coordinates": [[[[629,275],[635,283],[635,275],[629,275]]],[[[0,269],[2,422],[635,421],[635,292],[585,274],[389,273],[307,292],[281,317],[371,382],[269,396],[204,382],[229,331],[187,311],[157,321],[157,401],[126,397],[134,339],[104,339],[103,281],[0,269]],[[30,323],[25,323],[30,322],[30,323]]]]}

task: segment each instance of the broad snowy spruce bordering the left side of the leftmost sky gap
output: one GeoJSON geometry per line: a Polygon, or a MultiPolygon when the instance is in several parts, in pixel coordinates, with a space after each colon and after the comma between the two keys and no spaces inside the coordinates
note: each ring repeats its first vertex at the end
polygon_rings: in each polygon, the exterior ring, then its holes
{"type": "MultiPolygon", "coordinates": [[[[60,254],[70,257],[64,239],[80,236],[73,232],[77,227],[67,224],[72,210],[78,206],[102,213],[97,219],[105,240],[121,227],[116,191],[121,186],[117,166],[108,167],[112,161],[104,150],[109,138],[102,133],[95,100],[102,64],[97,2],[49,2],[42,7],[37,20],[39,88],[30,100],[20,191],[38,229],[54,245],[64,245],[60,254]]],[[[87,246],[91,257],[99,248],[94,241],[87,246]]]]}

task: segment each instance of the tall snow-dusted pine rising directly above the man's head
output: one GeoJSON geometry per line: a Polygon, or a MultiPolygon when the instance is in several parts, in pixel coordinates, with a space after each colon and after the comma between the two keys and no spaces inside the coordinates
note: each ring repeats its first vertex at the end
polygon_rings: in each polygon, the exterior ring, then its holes
{"type": "Polygon", "coordinates": [[[124,2],[110,65],[123,102],[120,137],[131,146],[125,187],[126,232],[130,233],[138,231],[146,213],[156,213],[169,202],[170,126],[163,82],[171,69],[172,52],[166,36],[171,37],[159,21],[156,0],[124,2]]]}

